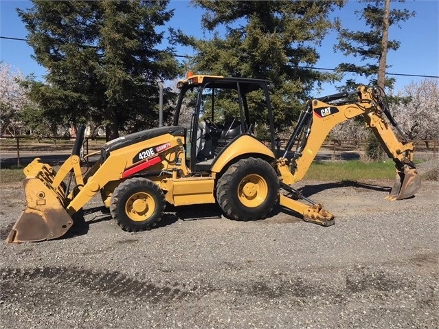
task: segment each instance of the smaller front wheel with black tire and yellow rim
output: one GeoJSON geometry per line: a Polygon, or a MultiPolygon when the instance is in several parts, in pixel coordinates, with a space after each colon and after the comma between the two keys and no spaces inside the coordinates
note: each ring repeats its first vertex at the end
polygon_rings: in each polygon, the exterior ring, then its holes
{"type": "Polygon", "coordinates": [[[125,231],[144,231],[159,222],[165,206],[165,196],[156,183],[149,179],[133,178],[115,188],[110,212],[125,231]]]}

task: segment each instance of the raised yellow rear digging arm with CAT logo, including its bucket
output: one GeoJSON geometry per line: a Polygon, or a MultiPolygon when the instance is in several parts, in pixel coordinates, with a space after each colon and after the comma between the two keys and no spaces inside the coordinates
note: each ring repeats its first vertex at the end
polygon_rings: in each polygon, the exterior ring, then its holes
{"type": "MultiPolygon", "coordinates": [[[[376,135],[387,156],[396,164],[396,183],[390,198],[402,199],[413,196],[420,187],[420,179],[413,163],[413,144],[404,136],[405,143],[401,143],[390,124],[385,121],[383,114],[388,117],[392,125],[396,126],[379,92],[366,87],[359,87],[352,93],[339,93],[308,101],[286,145],[283,157],[277,161],[282,182],[291,185],[303,179],[330,131],[337,124],[361,115],[366,126],[376,135]],[[340,101],[355,94],[357,94],[355,100],[340,101]],[[334,100],[339,102],[330,103],[334,100]],[[287,155],[293,150],[293,146],[296,146],[294,155],[289,159],[287,155]]],[[[396,129],[401,133],[397,126],[396,129]]]]}

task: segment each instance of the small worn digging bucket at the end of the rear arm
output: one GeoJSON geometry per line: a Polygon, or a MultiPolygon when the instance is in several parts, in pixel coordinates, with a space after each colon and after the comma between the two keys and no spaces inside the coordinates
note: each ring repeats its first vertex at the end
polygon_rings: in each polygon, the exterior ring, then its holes
{"type": "Polygon", "coordinates": [[[404,171],[396,171],[395,184],[390,191],[390,194],[386,197],[389,200],[402,200],[403,198],[409,198],[414,196],[420,188],[420,177],[416,168],[409,168],[404,166],[404,171]]]}

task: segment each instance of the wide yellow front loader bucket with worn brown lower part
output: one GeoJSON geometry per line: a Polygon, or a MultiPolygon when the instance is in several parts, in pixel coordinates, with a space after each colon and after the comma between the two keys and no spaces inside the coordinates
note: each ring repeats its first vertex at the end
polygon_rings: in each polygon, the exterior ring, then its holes
{"type": "MultiPolygon", "coordinates": [[[[38,165],[41,170],[23,181],[27,208],[12,227],[5,243],[52,240],[63,236],[73,225],[73,219],[65,210],[63,186],[55,188],[51,185],[54,178],[52,168],[38,161],[33,165],[38,165]]],[[[26,169],[30,171],[30,168],[26,169]]]]}

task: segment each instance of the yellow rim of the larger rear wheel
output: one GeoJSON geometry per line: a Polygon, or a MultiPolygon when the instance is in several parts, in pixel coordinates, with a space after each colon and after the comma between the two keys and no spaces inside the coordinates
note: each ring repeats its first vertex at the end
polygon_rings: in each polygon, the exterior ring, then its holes
{"type": "Polygon", "coordinates": [[[249,174],[238,186],[238,198],[246,207],[258,207],[268,195],[267,181],[258,174],[249,174]]]}

